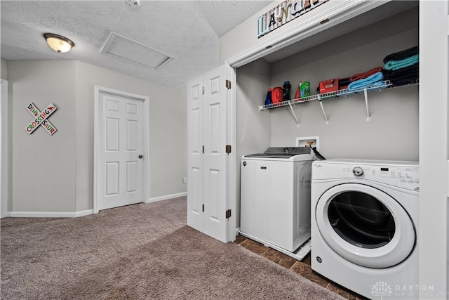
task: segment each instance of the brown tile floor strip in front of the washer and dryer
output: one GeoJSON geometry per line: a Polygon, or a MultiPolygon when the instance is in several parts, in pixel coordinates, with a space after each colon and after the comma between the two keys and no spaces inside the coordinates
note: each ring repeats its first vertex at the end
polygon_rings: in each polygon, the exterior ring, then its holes
{"type": "Polygon", "coordinates": [[[286,254],[266,247],[263,244],[250,240],[246,237],[242,237],[241,235],[237,235],[235,243],[241,245],[242,247],[245,247],[246,249],[249,249],[256,254],[259,254],[260,256],[264,256],[270,261],[274,261],[275,263],[279,264],[279,266],[283,266],[284,268],[288,268],[288,270],[291,270],[292,272],[302,275],[302,277],[307,278],[315,282],[316,284],[321,285],[322,287],[326,287],[326,289],[340,294],[340,296],[344,296],[344,298],[346,299],[366,299],[363,296],[354,294],[353,292],[345,289],[344,287],[341,287],[340,285],[337,285],[334,282],[330,282],[326,278],[323,278],[323,276],[311,270],[310,254],[308,254],[302,261],[297,261],[296,259],[293,259],[286,254]]]}

